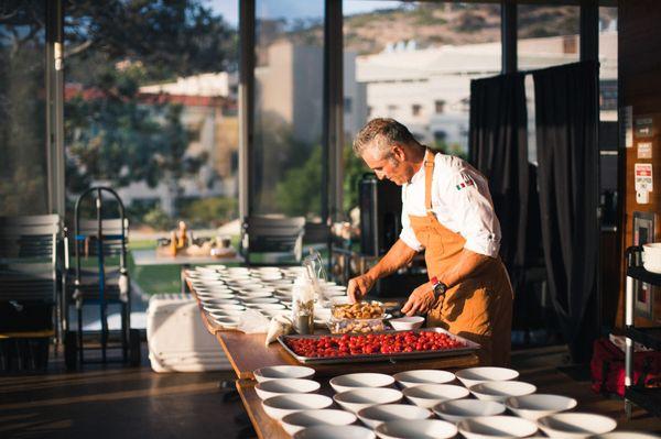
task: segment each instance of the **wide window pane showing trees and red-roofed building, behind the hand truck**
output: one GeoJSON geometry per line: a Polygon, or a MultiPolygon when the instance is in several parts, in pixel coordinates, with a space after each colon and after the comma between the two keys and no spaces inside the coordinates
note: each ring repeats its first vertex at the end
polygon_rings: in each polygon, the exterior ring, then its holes
{"type": "Polygon", "coordinates": [[[237,1],[66,4],[69,210],[104,184],[147,235],[237,218],[237,1]]]}

